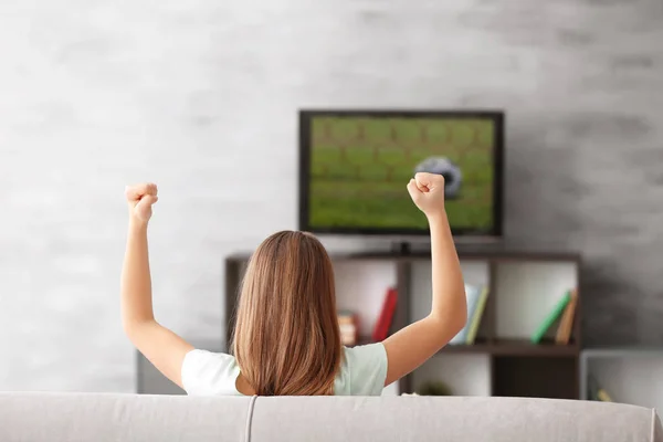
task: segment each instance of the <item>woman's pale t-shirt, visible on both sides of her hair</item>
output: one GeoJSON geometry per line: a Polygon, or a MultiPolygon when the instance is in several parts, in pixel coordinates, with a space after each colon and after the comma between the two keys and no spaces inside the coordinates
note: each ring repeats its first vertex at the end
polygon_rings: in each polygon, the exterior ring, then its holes
{"type": "MultiPolygon", "coordinates": [[[[381,343],[344,347],[345,358],[334,381],[335,396],[380,396],[387,378],[387,351],[381,343]]],[[[234,356],[191,350],[182,362],[182,386],[189,396],[242,396],[235,387],[240,367],[234,356]]]]}

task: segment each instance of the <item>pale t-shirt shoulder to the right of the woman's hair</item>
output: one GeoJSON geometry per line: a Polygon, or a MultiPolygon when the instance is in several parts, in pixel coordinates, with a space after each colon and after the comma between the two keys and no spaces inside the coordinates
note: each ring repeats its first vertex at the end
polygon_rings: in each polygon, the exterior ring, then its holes
{"type": "Polygon", "coordinates": [[[387,350],[381,343],[344,347],[335,383],[337,396],[380,396],[387,379],[387,350]]]}

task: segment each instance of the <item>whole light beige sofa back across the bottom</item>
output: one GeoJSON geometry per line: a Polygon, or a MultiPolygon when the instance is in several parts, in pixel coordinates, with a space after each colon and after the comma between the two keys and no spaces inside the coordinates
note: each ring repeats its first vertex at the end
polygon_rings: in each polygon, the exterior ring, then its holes
{"type": "Polygon", "coordinates": [[[663,441],[646,408],[518,398],[0,393],[0,441],[663,441]]]}

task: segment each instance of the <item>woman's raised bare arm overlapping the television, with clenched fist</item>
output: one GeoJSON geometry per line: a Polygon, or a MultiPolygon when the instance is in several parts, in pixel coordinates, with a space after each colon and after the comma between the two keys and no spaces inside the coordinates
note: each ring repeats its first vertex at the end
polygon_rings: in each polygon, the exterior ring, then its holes
{"type": "Polygon", "coordinates": [[[427,215],[431,230],[432,306],[425,318],[385,339],[388,360],[385,386],[425,362],[467,322],[465,284],[444,209],[444,178],[417,173],[408,183],[408,191],[427,215]]]}

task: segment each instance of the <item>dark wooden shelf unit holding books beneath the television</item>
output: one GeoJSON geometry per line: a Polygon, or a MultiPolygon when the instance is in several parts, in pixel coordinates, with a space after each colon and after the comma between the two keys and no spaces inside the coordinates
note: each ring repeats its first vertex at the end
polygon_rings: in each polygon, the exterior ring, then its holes
{"type": "MultiPolygon", "coordinates": [[[[448,345],[434,358],[463,355],[482,355],[488,358],[487,367],[491,386],[487,393],[490,396],[579,399],[581,349],[581,291],[579,287],[581,260],[579,254],[509,248],[504,244],[485,246],[460,245],[457,252],[461,263],[481,263],[485,265],[490,295],[477,333],[476,344],[448,345]],[[567,288],[577,290],[578,304],[573,318],[571,340],[568,345],[556,345],[550,339],[544,340],[541,344],[532,344],[529,336],[501,336],[498,305],[501,298],[503,301],[506,299],[506,294],[499,293],[501,266],[537,263],[560,263],[572,265],[575,269],[576,286],[568,286],[567,288]]],[[[249,253],[240,253],[228,256],[225,260],[225,343],[230,343],[234,325],[233,313],[235,312],[236,296],[249,257],[249,253]]],[[[430,252],[412,252],[409,254],[391,252],[330,253],[330,257],[335,265],[352,261],[392,264],[394,266],[394,285],[399,299],[390,333],[397,332],[417,320],[413,317],[411,308],[412,298],[418,296],[418,294],[413,293],[415,292],[412,284],[413,269],[420,265],[430,266],[430,252]]],[[[388,283],[385,284],[385,290],[388,285],[388,283]]],[[[558,295],[561,296],[562,293],[558,293],[558,295]]],[[[537,296],[537,294],[529,293],[526,296],[537,296]]],[[[343,306],[339,305],[339,308],[343,308],[343,306]]],[[[364,339],[359,344],[368,343],[370,340],[364,339]]],[[[417,370],[399,381],[399,393],[414,391],[413,377],[415,373],[417,370]]]]}

